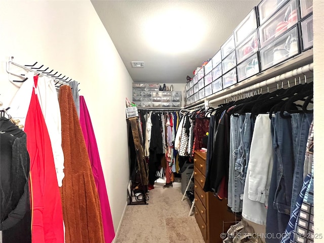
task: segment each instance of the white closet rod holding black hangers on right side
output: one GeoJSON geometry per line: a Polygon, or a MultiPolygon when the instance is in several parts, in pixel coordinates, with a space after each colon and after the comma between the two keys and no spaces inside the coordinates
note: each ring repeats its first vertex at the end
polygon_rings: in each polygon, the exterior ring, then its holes
{"type": "MultiPolygon", "coordinates": [[[[209,104],[215,103],[215,102],[220,101],[220,100],[225,100],[225,99],[233,97],[233,96],[244,94],[244,93],[247,93],[247,92],[250,92],[250,91],[258,90],[258,89],[263,88],[263,87],[268,87],[269,85],[272,85],[272,84],[278,84],[278,82],[286,81],[289,78],[296,77],[296,76],[299,76],[301,74],[305,74],[307,72],[312,72],[312,71],[313,71],[313,63],[310,63],[310,64],[307,64],[305,66],[302,66],[302,67],[296,68],[294,70],[291,70],[289,72],[286,72],[286,73],[277,75],[275,77],[272,77],[270,79],[264,80],[264,81],[262,81],[260,83],[249,86],[247,88],[237,90],[237,91],[234,91],[234,92],[232,92],[230,94],[223,95],[223,96],[220,96],[220,97],[215,98],[213,100],[210,100],[209,104]]],[[[188,109],[194,109],[194,108],[200,107],[200,106],[201,106],[201,104],[198,104],[198,105],[192,106],[192,107],[190,107],[188,109]]]]}

